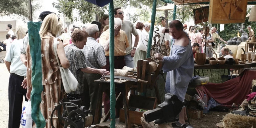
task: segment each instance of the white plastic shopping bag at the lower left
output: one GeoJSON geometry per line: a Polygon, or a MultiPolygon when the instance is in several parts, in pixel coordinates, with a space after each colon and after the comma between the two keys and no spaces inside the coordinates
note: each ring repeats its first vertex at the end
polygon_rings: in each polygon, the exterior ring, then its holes
{"type": "Polygon", "coordinates": [[[32,128],[31,100],[28,100],[24,103],[20,124],[22,125],[22,128],[32,128]]]}

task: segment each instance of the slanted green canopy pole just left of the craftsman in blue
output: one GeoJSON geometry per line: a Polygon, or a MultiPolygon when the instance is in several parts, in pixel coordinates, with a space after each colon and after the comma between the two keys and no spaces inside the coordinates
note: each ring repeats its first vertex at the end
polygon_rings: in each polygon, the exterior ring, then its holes
{"type": "Polygon", "coordinates": [[[149,38],[148,38],[147,58],[151,58],[150,51],[151,51],[152,37],[153,37],[153,31],[154,31],[154,26],[155,26],[155,17],[156,17],[156,0],[153,1],[153,8],[152,8],[152,15],[151,15],[151,27],[150,27],[149,38]]]}

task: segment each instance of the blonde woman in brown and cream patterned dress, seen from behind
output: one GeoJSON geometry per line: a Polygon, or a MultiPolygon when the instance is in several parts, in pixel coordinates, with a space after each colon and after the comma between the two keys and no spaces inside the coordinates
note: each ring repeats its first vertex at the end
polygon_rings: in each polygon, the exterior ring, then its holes
{"type": "MultiPolygon", "coordinates": [[[[54,53],[54,39],[61,34],[62,21],[56,14],[49,14],[42,22],[39,31],[41,37],[41,57],[42,57],[42,84],[43,92],[41,94],[42,102],[40,110],[45,118],[46,128],[51,128],[50,117],[52,110],[56,107],[60,99],[64,98],[65,91],[63,89],[59,65],[54,53]]],[[[69,67],[69,61],[65,56],[63,42],[57,39],[57,55],[63,68],[69,67]]],[[[30,55],[30,46],[27,46],[27,98],[30,99],[32,90],[31,84],[31,66],[32,60],[30,55]]],[[[39,106],[38,106],[39,107],[39,106]]],[[[57,113],[55,111],[53,117],[53,125],[55,128],[61,128],[57,113]]],[[[34,120],[39,122],[40,120],[34,120]]],[[[35,124],[33,124],[35,127],[35,124]]]]}

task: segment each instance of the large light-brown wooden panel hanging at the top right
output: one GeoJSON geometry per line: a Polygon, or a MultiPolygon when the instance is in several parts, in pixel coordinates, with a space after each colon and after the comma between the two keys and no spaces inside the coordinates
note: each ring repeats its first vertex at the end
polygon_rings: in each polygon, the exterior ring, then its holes
{"type": "Polygon", "coordinates": [[[210,0],[209,23],[244,23],[247,0],[210,0]]]}

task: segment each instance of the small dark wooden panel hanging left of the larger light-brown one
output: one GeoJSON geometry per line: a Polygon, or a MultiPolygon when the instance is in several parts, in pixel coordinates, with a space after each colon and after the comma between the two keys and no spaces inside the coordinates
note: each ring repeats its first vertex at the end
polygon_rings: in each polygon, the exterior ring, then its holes
{"type": "Polygon", "coordinates": [[[193,9],[195,24],[208,21],[209,6],[193,9]]]}

